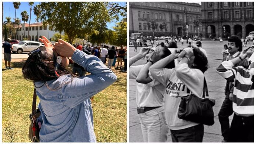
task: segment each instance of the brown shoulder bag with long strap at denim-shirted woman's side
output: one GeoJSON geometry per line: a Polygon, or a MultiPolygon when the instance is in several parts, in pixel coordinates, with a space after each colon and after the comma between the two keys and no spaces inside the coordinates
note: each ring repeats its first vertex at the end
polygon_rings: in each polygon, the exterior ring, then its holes
{"type": "Polygon", "coordinates": [[[28,137],[32,142],[40,142],[39,141],[39,131],[40,128],[37,118],[41,115],[39,109],[36,109],[36,89],[34,88],[33,102],[32,102],[32,113],[29,115],[30,126],[28,137]]]}

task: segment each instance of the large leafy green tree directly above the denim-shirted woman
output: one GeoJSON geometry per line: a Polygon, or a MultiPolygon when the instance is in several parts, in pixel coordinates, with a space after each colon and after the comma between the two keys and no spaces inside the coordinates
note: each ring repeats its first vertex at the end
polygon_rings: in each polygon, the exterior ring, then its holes
{"type": "Polygon", "coordinates": [[[40,19],[58,32],[65,32],[68,42],[76,36],[91,34],[104,22],[110,22],[108,2],[41,2],[40,19]]]}

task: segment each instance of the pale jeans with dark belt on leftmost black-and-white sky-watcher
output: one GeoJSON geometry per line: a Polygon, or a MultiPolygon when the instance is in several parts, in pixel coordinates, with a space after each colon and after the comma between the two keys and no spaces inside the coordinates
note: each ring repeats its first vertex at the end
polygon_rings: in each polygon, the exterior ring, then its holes
{"type": "Polygon", "coordinates": [[[164,117],[163,107],[139,114],[144,142],[166,142],[168,126],[164,117]]]}

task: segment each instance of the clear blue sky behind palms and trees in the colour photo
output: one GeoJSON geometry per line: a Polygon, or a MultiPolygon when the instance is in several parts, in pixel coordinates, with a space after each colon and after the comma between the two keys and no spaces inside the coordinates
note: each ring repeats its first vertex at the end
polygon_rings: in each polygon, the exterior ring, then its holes
{"type": "MultiPolygon", "coordinates": [[[[32,6],[31,22],[30,22],[31,24],[35,23],[35,18],[36,18],[36,15],[34,15],[34,12],[33,12],[33,7],[39,3],[40,2],[35,2],[34,5],[32,6]]],[[[121,5],[121,6],[125,6],[125,2],[117,2],[117,3],[119,3],[119,5],[121,5]]],[[[30,13],[30,6],[29,6],[28,2],[21,2],[21,5],[19,6],[19,8],[16,11],[16,18],[21,19],[21,12],[24,10],[26,10],[28,12],[28,14],[30,13]]],[[[3,19],[3,21],[6,21],[6,17],[11,17],[11,21],[14,21],[15,8],[13,7],[13,2],[4,2],[4,19],[3,19]]],[[[120,16],[120,20],[121,19],[122,19],[122,17],[120,16]]],[[[23,21],[21,21],[21,23],[23,23],[23,21]]],[[[27,23],[29,23],[29,21],[27,23]]],[[[115,26],[115,23],[116,23],[116,21],[108,23],[107,28],[113,29],[112,27],[115,26]]]]}

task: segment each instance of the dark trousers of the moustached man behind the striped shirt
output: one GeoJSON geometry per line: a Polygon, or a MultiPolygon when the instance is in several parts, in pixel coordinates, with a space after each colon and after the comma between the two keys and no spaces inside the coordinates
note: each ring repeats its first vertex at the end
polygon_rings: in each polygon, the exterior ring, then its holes
{"type": "Polygon", "coordinates": [[[220,121],[221,134],[224,140],[228,140],[230,133],[230,124],[228,117],[233,114],[232,101],[227,95],[221,105],[220,112],[218,113],[218,119],[220,121]]]}

